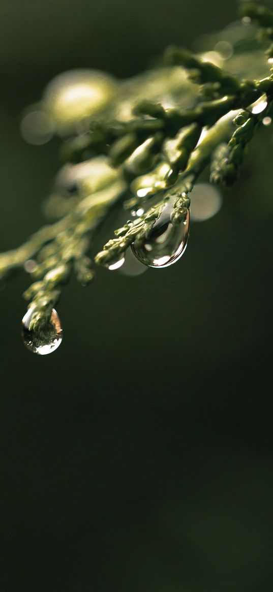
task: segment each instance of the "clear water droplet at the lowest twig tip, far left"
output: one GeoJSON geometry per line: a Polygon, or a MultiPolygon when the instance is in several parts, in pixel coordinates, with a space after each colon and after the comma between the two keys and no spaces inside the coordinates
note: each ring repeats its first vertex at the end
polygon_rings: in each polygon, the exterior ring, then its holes
{"type": "Polygon", "coordinates": [[[33,312],[33,308],[28,308],[27,313],[25,313],[25,316],[22,319],[22,338],[27,349],[33,353],[38,353],[39,355],[44,356],[59,348],[63,338],[63,331],[60,325],[59,316],[54,308],[52,309],[52,316],[49,324],[44,327],[42,331],[39,333],[30,331],[29,326],[33,312]]]}

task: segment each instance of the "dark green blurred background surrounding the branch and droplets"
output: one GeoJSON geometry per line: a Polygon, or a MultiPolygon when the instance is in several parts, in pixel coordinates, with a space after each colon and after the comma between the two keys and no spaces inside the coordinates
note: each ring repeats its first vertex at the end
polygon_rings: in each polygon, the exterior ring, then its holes
{"type": "MultiPolygon", "coordinates": [[[[20,135],[46,83],[75,67],[134,75],[236,11],[2,0],[1,250],[43,223],[59,168],[58,140],[20,135]]],[[[27,274],[0,292],[3,592],[271,589],[272,135],[260,131],[219,213],[192,224],[177,265],[65,287],[53,355],[21,343],[27,274]]]]}

